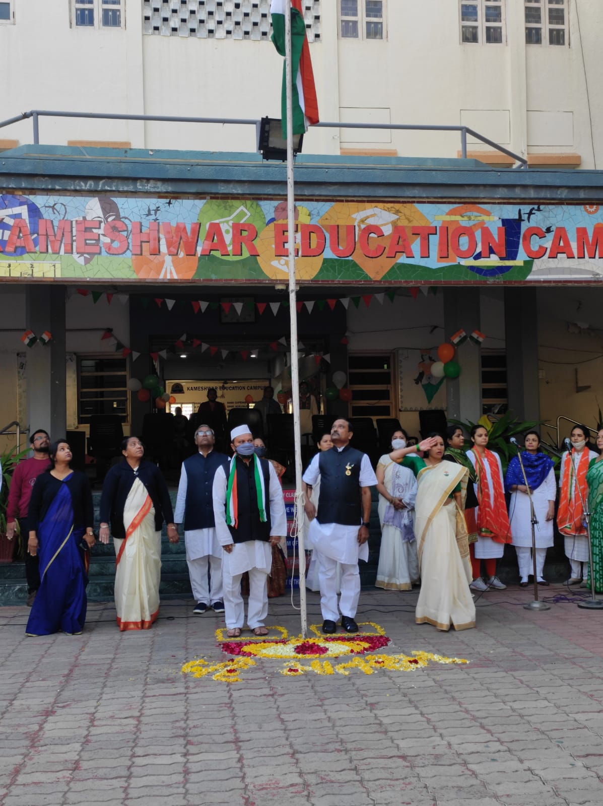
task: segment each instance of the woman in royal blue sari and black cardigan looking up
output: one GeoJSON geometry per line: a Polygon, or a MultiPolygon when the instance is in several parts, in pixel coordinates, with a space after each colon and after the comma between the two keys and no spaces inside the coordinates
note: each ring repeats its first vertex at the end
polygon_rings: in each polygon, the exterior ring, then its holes
{"type": "Polygon", "coordinates": [[[84,629],[89,549],[94,546],[94,510],[88,479],[69,466],[66,439],[48,450],[50,467],[38,476],[27,513],[31,556],[40,555],[40,590],[27,620],[27,635],[84,629]]]}

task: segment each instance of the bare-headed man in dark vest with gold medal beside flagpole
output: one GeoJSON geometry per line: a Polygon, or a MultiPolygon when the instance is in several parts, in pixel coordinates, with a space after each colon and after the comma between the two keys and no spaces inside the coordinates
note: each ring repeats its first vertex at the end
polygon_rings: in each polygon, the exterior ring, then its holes
{"type": "Polygon", "coordinates": [[[318,552],[318,581],[322,632],[335,633],[339,612],[348,633],[358,632],[354,621],[360,597],[358,560],[368,559],[368,519],[371,515],[371,487],[377,483],[370,459],[351,447],[347,420],[335,420],[331,427],[333,447],[321,451],[310,463],[304,510],[311,521],[308,543],[318,552]],[[312,486],[320,478],[318,513],[310,501],[312,486]],[[337,563],[341,563],[341,599],[337,604],[337,563]]]}

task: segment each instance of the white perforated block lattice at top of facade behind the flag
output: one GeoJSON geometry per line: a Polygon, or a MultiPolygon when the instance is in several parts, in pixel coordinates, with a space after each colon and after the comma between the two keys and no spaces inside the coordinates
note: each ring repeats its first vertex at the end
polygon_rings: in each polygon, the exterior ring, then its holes
{"type": "MultiPolygon", "coordinates": [[[[320,0],[301,0],[301,7],[308,41],[320,41],[320,0]]],[[[143,32],[268,41],[272,35],[270,0],[143,0],[143,32]]]]}

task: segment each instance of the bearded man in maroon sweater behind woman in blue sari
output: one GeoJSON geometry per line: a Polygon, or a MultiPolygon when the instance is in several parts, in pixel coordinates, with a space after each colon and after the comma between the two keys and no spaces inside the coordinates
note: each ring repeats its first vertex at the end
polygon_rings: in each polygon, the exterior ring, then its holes
{"type": "MultiPolygon", "coordinates": [[[[10,480],[10,490],[8,492],[8,502],[6,504],[6,537],[13,539],[17,528],[16,521],[19,521],[21,534],[27,540],[27,509],[31,490],[34,488],[35,480],[40,473],[44,473],[48,467],[48,448],[50,447],[50,437],[43,428],[34,431],[29,438],[34,455],[31,459],[23,459],[15,467],[13,477],[10,480]]],[[[40,588],[40,560],[37,555],[32,557],[29,552],[25,555],[25,577],[27,579],[27,606],[34,603],[35,594],[40,588]]]]}

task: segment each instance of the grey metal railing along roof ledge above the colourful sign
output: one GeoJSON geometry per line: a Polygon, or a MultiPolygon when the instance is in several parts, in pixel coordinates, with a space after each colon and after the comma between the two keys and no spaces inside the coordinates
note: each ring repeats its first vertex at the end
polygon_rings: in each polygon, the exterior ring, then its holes
{"type": "MultiPolygon", "coordinates": [[[[33,123],[34,145],[40,144],[40,118],[92,118],[97,120],[139,120],[153,123],[217,123],[220,125],[253,126],[256,127],[256,140],[260,133],[260,120],[255,118],[190,118],[169,114],[120,114],[117,112],[63,112],[58,110],[34,109],[22,114],[15,115],[14,118],[7,118],[0,121],[0,129],[19,123],[22,120],[31,118],[33,123]]],[[[458,131],[460,132],[460,154],[467,158],[467,137],[475,137],[480,143],[493,147],[497,152],[505,154],[514,160],[518,165],[514,168],[527,168],[528,163],[525,157],[519,156],[508,148],[495,143],[493,140],[468,126],[436,126],[422,125],[414,123],[317,123],[313,128],[326,129],[393,129],[394,131],[458,131]]]]}

